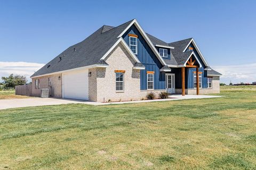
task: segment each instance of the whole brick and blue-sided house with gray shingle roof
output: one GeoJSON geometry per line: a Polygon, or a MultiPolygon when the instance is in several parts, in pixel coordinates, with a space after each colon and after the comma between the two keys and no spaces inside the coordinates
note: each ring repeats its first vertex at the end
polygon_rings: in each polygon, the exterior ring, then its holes
{"type": "Polygon", "coordinates": [[[219,93],[220,73],[211,69],[193,38],[165,43],[137,20],[103,25],[31,75],[32,94],[90,101],[141,100],[158,94],[219,93]]]}

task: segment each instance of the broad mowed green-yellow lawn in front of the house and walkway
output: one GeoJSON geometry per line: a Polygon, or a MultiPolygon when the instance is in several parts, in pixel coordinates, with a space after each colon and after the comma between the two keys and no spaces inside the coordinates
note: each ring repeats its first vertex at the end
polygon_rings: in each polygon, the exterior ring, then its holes
{"type": "Polygon", "coordinates": [[[256,169],[256,86],[220,95],[0,111],[0,169],[256,169]]]}

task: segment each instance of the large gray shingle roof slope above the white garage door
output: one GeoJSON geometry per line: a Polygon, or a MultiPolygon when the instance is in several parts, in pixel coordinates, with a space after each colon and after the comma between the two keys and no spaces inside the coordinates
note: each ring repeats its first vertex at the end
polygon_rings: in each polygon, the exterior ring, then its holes
{"type": "Polygon", "coordinates": [[[82,42],[68,47],[31,77],[98,64],[100,58],[116,43],[117,37],[132,21],[115,28],[107,25],[102,26],[82,42]]]}

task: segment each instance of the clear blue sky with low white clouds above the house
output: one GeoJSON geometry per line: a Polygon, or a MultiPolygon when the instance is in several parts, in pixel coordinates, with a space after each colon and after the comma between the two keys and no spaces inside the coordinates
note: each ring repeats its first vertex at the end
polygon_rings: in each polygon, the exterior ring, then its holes
{"type": "Polygon", "coordinates": [[[0,77],[10,73],[8,64],[13,72],[28,67],[18,73],[29,75],[103,24],[136,18],[167,43],[193,37],[207,62],[225,75],[223,82],[256,81],[250,74],[256,73],[255,6],[256,1],[0,1],[0,77]]]}

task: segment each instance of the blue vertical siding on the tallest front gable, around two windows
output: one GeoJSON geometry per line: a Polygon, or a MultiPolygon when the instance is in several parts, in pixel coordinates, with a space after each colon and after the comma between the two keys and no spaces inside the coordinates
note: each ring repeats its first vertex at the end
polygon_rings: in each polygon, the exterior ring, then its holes
{"type": "Polygon", "coordinates": [[[139,30],[132,25],[123,35],[124,41],[127,45],[130,45],[129,34],[138,36],[137,41],[137,57],[139,61],[146,67],[145,70],[140,71],[140,89],[147,90],[147,71],[154,71],[154,89],[165,89],[165,73],[160,69],[163,67],[158,60],[153,50],[149,47],[146,40],[142,37],[139,30]]]}

